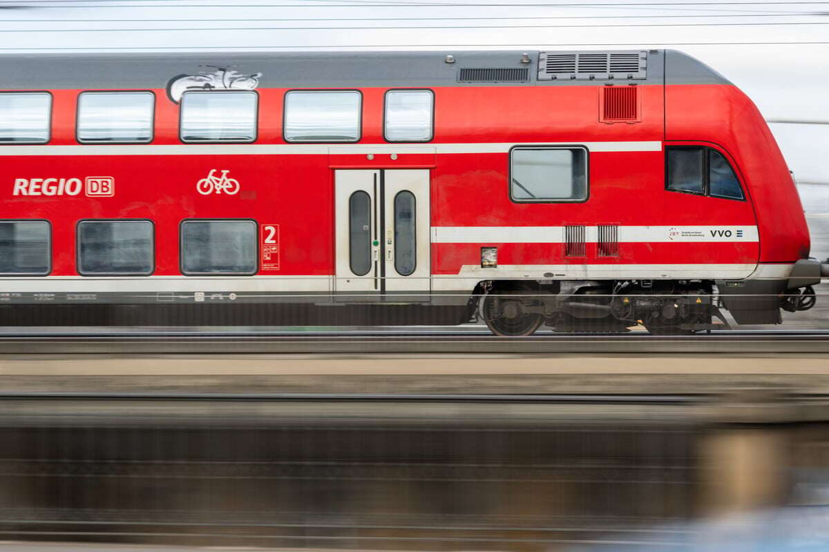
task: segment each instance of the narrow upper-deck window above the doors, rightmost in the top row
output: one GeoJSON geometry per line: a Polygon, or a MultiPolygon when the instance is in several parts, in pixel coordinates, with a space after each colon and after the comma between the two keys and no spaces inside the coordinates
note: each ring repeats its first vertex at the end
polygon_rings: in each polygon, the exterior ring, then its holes
{"type": "Polygon", "coordinates": [[[384,127],[387,142],[429,142],[434,121],[431,90],[389,90],[385,93],[384,127]]]}

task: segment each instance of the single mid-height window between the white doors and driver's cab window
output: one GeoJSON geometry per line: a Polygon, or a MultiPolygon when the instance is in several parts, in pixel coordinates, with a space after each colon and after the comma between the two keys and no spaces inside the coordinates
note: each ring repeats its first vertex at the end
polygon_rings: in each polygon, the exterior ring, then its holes
{"type": "Polygon", "coordinates": [[[510,152],[510,197],[525,203],[587,199],[584,147],[518,146],[510,152]]]}

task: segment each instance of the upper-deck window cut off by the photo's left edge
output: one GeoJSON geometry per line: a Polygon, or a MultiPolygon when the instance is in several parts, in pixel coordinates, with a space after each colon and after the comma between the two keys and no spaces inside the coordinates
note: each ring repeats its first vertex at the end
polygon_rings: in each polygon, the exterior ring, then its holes
{"type": "Polygon", "coordinates": [[[0,94],[0,143],[49,142],[51,94],[46,92],[0,94]]]}

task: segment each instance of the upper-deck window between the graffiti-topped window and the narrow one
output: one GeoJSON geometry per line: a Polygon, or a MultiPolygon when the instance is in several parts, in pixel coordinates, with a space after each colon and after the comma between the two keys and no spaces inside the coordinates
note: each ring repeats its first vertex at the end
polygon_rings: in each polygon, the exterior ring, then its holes
{"type": "Polygon", "coordinates": [[[286,142],[357,142],[362,97],[355,90],[293,90],[285,94],[286,142]]]}

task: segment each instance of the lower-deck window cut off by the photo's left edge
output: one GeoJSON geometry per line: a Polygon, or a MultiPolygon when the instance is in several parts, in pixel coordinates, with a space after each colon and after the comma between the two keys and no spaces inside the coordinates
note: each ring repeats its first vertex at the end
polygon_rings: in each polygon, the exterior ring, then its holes
{"type": "Polygon", "coordinates": [[[45,220],[0,220],[0,274],[46,276],[51,228],[45,220]]]}

